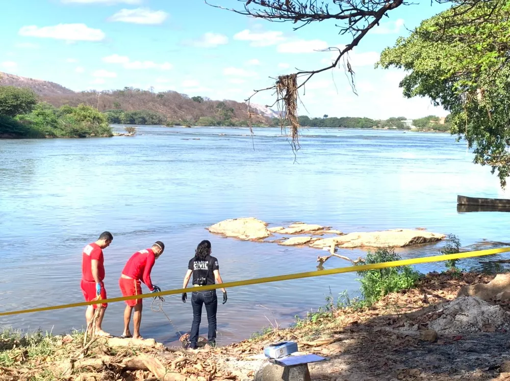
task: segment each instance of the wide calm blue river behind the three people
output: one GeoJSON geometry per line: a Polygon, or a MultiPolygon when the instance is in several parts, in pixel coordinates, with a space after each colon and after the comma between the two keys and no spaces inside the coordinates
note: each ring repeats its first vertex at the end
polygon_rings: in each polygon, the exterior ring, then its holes
{"type": "MultiPolygon", "coordinates": [[[[111,297],[120,296],[125,261],[158,239],[166,250],[152,280],[162,289],[182,286],[202,239],[211,240],[224,281],[315,270],[317,255],[324,254],[221,238],[205,229],[235,217],[274,225],[303,221],[344,232],[423,227],[454,233],[464,247],[507,240],[508,214],[457,213],[457,194],[508,194],[449,134],[303,129],[294,160],[289,142],[274,128],[255,129],[253,138],[247,128],[138,131],[136,137],[108,139],[0,140],[0,311],[81,302],[81,251],[104,230],[114,234],[105,250],[111,297]]],[[[436,244],[399,251],[403,258],[437,252],[436,244]]],[[[352,258],[363,253],[344,251],[352,258]]],[[[346,265],[332,258],[324,267],[346,265]]],[[[231,289],[218,307],[218,342],[247,338],[268,320],[287,326],[294,315],[343,290],[358,292],[355,274],[231,289]]],[[[150,311],[150,301],[144,302],[142,335],[177,344],[175,329],[162,313],[150,311]]],[[[109,306],[105,330],[122,333],[123,308],[123,302],[109,306]]],[[[177,329],[189,331],[189,297],[186,304],[180,295],[167,297],[164,310],[177,329]]],[[[53,333],[83,325],[84,308],[0,317],[3,327],[53,333]]],[[[207,336],[205,312],[200,331],[207,336]]]]}

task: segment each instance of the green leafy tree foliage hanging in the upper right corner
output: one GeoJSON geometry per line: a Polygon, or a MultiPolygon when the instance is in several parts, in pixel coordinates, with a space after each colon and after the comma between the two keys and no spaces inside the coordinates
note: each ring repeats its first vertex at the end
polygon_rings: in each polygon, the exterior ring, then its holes
{"type": "Polygon", "coordinates": [[[381,53],[378,65],[409,72],[406,97],[427,96],[451,113],[451,133],[474,148],[474,162],[510,175],[510,3],[450,9],[381,53]],[[496,6],[495,6],[496,5],[496,6]]]}

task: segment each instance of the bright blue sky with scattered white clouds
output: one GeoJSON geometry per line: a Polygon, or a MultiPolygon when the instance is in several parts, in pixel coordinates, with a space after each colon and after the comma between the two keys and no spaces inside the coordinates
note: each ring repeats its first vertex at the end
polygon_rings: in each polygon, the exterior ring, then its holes
{"type": "MultiPolygon", "coordinates": [[[[403,98],[402,71],[373,68],[382,49],[443,9],[423,1],[391,11],[350,55],[359,95],[352,93],[343,68],[327,71],[307,84],[299,114],[446,115],[429,99],[403,98]]],[[[243,101],[254,89],[271,86],[271,76],[330,62],[333,53],[315,50],[349,42],[335,22],[293,31],[291,23],[248,18],[202,0],[18,0],[4,2],[2,11],[8,17],[0,24],[0,71],[76,91],[153,87],[243,101]]],[[[259,93],[252,102],[271,104],[273,96],[259,93]]]]}

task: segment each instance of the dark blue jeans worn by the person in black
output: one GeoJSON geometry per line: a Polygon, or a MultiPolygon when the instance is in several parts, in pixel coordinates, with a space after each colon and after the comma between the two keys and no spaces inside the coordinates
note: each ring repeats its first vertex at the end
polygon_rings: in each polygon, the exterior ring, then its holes
{"type": "Polygon", "coordinates": [[[207,322],[209,323],[209,344],[216,343],[216,311],[218,310],[218,298],[216,290],[192,292],[191,307],[193,307],[193,323],[191,324],[190,348],[196,348],[198,330],[202,319],[202,304],[206,306],[207,322]]]}

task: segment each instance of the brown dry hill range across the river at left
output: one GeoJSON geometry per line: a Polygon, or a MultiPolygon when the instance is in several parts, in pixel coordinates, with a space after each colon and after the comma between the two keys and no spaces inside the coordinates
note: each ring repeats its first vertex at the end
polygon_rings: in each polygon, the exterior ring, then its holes
{"type": "MultiPolygon", "coordinates": [[[[234,100],[211,100],[176,91],[154,93],[147,90],[125,87],[122,90],[74,92],[65,87],[39,79],[0,73],[0,86],[30,88],[39,95],[40,100],[56,107],[64,104],[78,106],[86,104],[100,112],[149,111],[160,114],[169,123],[200,125],[246,125],[249,115],[245,103],[234,100]]],[[[262,107],[259,107],[262,108],[262,107]]],[[[256,107],[250,107],[251,122],[267,125],[269,116],[256,107]]]]}

